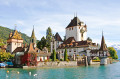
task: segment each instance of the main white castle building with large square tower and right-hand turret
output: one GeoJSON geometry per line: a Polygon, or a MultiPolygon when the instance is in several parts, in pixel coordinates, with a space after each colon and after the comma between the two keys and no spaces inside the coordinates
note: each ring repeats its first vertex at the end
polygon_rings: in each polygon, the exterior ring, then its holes
{"type": "Polygon", "coordinates": [[[53,36],[51,41],[51,52],[55,50],[59,59],[64,59],[65,49],[67,49],[69,60],[76,60],[80,56],[92,59],[109,55],[104,36],[102,35],[101,47],[87,40],[87,25],[80,21],[77,16],[71,20],[65,30],[65,41],[61,40],[58,33],[53,36]]]}

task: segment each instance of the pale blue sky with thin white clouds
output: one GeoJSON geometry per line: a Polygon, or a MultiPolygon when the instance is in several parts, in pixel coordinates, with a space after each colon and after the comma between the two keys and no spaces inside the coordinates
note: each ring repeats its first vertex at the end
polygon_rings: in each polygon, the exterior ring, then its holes
{"type": "Polygon", "coordinates": [[[74,14],[87,25],[87,36],[108,46],[120,44],[120,0],[0,0],[0,26],[15,28],[38,40],[51,27],[63,38],[74,14]]]}

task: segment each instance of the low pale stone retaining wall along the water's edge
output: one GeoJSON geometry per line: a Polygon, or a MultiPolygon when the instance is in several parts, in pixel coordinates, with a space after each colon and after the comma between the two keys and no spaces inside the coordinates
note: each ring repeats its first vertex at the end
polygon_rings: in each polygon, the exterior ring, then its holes
{"type": "Polygon", "coordinates": [[[39,62],[37,67],[72,67],[77,66],[77,61],[56,61],[56,62],[39,62]]]}

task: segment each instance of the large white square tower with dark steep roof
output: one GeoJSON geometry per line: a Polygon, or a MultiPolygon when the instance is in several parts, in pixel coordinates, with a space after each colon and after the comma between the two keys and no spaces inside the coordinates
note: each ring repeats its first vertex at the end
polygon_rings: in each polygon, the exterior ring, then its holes
{"type": "Polygon", "coordinates": [[[80,21],[79,18],[76,16],[66,27],[66,40],[69,37],[74,37],[76,41],[86,40],[86,33],[87,25],[80,21]]]}

